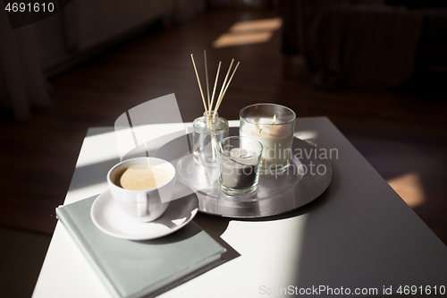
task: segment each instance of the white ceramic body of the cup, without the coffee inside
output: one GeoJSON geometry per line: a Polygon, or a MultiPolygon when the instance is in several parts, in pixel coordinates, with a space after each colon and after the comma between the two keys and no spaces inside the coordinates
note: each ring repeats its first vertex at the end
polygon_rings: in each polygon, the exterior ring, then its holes
{"type": "MultiPolygon", "coordinates": [[[[155,179],[157,180],[156,175],[155,179]]],[[[114,200],[127,217],[138,222],[150,222],[164,213],[169,206],[169,201],[173,198],[175,167],[160,158],[131,158],[122,161],[109,170],[107,183],[114,200]],[[145,190],[128,190],[116,184],[122,173],[129,167],[148,165],[148,163],[152,168],[155,166],[163,167],[163,170],[169,173],[169,179],[164,183],[156,183],[156,187],[145,190]]]]}

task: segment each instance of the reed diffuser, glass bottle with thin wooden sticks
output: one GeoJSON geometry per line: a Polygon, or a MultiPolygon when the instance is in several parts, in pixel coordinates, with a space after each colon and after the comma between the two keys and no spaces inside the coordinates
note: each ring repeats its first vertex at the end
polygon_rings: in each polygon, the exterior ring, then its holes
{"type": "Polygon", "coordinates": [[[219,79],[219,72],[221,69],[222,62],[219,62],[217,67],[217,73],[215,74],[215,86],[213,88],[212,95],[209,95],[209,83],[208,83],[208,70],[207,70],[207,51],[204,51],[205,56],[205,73],[207,77],[207,100],[203,94],[202,85],[200,83],[200,79],[198,77],[198,71],[196,67],[196,63],[194,62],[194,55],[191,54],[192,64],[194,66],[194,71],[196,72],[196,77],[198,81],[198,89],[200,89],[200,95],[202,96],[203,106],[205,107],[205,112],[201,117],[198,117],[192,123],[192,140],[193,140],[193,148],[192,153],[194,156],[194,160],[203,166],[216,166],[217,153],[215,150],[215,144],[219,140],[228,137],[229,129],[228,129],[228,121],[223,117],[219,116],[217,113],[219,106],[221,106],[223,97],[232,82],[232,78],[234,73],[239,67],[239,62],[236,64],[236,67],[232,70],[232,64],[234,63],[234,59],[228,68],[226,76],[223,80],[223,84],[219,95],[215,101],[215,89],[217,87],[217,82],[219,79]],[[230,76],[230,73],[232,75],[230,76]],[[230,79],[229,79],[230,77],[230,79]]]}

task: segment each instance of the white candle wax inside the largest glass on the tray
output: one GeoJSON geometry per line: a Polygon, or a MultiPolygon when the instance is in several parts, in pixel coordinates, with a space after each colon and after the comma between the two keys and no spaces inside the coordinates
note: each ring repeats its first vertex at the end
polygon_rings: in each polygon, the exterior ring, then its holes
{"type": "Polygon", "coordinates": [[[244,123],[240,135],[258,140],[263,146],[263,170],[274,170],[280,166],[287,166],[291,160],[291,143],[293,134],[289,124],[282,124],[281,120],[273,123],[273,118],[260,118],[244,123]]]}

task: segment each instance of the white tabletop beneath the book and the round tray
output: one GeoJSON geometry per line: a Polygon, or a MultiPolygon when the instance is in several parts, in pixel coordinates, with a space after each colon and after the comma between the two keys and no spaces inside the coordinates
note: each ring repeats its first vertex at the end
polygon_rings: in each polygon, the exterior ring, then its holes
{"type": "MultiPolygon", "coordinates": [[[[296,132],[319,148],[338,150],[327,191],[308,206],[269,220],[199,214],[196,223],[230,245],[228,261],[161,297],[258,297],[320,285],[334,294],[347,288],[351,294],[356,288],[383,294],[400,285],[418,290],[428,285],[433,293],[433,286],[447,286],[447,247],[333,123],[300,118],[296,132]]],[[[118,161],[113,128],[89,129],[65,204],[103,192],[105,174],[118,161]]],[[[33,297],[109,296],[57,223],[33,297]]]]}

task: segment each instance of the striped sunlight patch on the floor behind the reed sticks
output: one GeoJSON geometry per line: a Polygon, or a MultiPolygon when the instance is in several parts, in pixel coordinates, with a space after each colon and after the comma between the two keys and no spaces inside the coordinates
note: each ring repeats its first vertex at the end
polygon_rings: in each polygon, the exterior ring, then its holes
{"type": "Polygon", "coordinates": [[[281,18],[255,21],[238,21],[213,42],[213,47],[232,47],[264,43],[274,35],[274,30],[281,28],[281,18]]]}

